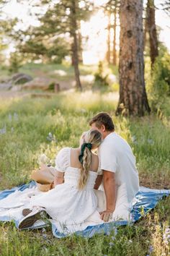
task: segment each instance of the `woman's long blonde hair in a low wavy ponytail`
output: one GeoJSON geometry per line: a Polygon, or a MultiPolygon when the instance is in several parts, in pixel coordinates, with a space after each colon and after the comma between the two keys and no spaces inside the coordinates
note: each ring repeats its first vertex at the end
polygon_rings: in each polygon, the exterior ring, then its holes
{"type": "Polygon", "coordinates": [[[84,153],[81,161],[81,175],[79,179],[79,189],[83,189],[89,178],[89,168],[91,166],[91,150],[98,148],[102,142],[102,135],[96,129],[91,129],[84,135],[84,143],[81,145],[84,147],[84,153]],[[91,150],[88,145],[90,145],[91,150]]]}

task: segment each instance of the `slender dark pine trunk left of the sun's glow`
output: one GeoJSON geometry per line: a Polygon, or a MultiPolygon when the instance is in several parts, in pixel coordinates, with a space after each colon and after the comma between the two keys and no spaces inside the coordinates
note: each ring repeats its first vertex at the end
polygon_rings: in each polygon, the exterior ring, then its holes
{"type": "Polygon", "coordinates": [[[82,90],[81,81],[80,81],[80,72],[79,72],[79,46],[77,31],[78,25],[76,20],[76,0],[71,1],[71,37],[73,38],[72,44],[72,61],[74,67],[74,74],[76,79],[76,88],[82,90]]]}

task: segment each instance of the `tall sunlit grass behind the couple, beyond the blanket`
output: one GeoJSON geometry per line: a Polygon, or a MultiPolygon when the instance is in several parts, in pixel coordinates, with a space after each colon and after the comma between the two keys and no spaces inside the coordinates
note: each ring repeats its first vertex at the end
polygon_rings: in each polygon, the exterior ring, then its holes
{"type": "Polygon", "coordinates": [[[6,130],[0,135],[0,166],[4,177],[1,188],[6,186],[6,180],[9,186],[27,181],[41,153],[46,153],[53,162],[63,146],[76,147],[81,132],[89,129],[89,119],[99,111],[113,116],[117,132],[134,150],[140,175],[157,183],[169,182],[170,136],[166,116],[161,119],[114,116],[116,101],[112,93],[63,93],[48,100],[19,98],[1,101],[0,108],[0,129],[6,130]],[[56,142],[48,142],[49,132],[56,142]]]}

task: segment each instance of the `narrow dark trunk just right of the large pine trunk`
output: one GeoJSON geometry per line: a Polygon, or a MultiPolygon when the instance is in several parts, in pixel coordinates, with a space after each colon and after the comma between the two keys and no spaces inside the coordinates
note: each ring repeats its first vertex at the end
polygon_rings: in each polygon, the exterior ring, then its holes
{"type": "Polygon", "coordinates": [[[158,56],[158,39],[156,35],[155,6],[154,0],[148,0],[146,9],[147,30],[149,33],[151,67],[158,56]]]}

